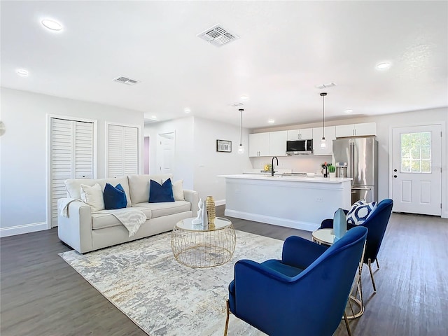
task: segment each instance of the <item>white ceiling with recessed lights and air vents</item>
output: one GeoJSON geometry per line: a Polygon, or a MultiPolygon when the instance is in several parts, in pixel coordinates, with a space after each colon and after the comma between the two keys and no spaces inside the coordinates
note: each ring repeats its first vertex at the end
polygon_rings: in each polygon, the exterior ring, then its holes
{"type": "Polygon", "coordinates": [[[1,1],[1,85],[235,125],[247,95],[244,127],[313,123],[329,82],[326,120],[448,106],[447,41],[448,1],[1,1]],[[218,23],[240,38],[197,37],[218,23]]]}

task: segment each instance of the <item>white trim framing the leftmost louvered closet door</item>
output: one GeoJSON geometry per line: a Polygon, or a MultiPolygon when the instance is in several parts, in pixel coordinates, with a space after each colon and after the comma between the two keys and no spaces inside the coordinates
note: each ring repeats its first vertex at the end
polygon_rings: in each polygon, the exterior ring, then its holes
{"type": "Polygon", "coordinates": [[[65,120],[73,120],[73,121],[80,121],[80,122],[84,122],[84,123],[92,123],[93,124],[93,178],[97,179],[97,123],[98,120],[95,119],[86,119],[86,118],[78,118],[78,117],[71,117],[71,116],[62,116],[59,114],[50,114],[47,113],[46,115],[47,118],[47,172],[46,172],[46,176],[47,176],[47,188],[46,188],[46,207],[47,207],[47,217],[46,217],[46,229],[51,229],[51,169],[50,169],[50,165],[51,165],[51,119],[52,118],[56,118],[56,119],[65,119],[65,120]]]}

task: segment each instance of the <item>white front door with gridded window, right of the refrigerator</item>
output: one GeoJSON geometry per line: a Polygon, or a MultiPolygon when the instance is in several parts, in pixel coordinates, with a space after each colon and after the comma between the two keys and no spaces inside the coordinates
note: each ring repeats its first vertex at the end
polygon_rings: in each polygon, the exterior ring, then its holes
{"type": "Polygon", "coordinates": [[[441,130],[440,125],[393,128],[393,211],[440,216],[441,130]]]}

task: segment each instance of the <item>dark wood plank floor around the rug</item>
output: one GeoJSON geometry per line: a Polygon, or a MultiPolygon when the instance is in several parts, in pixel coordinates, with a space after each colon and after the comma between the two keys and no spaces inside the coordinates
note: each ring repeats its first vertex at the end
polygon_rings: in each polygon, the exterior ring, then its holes
{"type": "MultiPolygon", "coordinates": [[[[217,207],[218,216],[223,210],[217,207]]],[[[237,230],[276,239],[311,238],[300,230],[232,221],[237,230]]],[[[365,314],[350,322],[353,335],[448,335],[447,243],[447,220],[393,214],[375,272],[377,294],[367,268],[363,272],[365,314]]],[[[69,249],[55,229],[0,239],[0,334],[146,335],[57,255],[69,249]]],[[[335,335],[346,335],[344,323],[335,335]]]]}

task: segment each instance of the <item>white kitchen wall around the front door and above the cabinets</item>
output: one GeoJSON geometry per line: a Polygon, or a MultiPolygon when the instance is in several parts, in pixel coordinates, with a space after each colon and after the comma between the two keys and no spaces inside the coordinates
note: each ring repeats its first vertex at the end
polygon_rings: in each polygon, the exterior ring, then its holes
{"type": "MultiPolygon", "coordinates": [[[[389,196],[389,137],[392,127],[409,125],[430,125],[431,123],[444,123],[445,129],[442,137],[442,217],[448,218],[448,108],[430,109],[424,111],[411,111],[404,113],[393,113],[379,116],[369,116],[362,118],[353,118],[345,120],[325,121],[326,126],[346,125],[350,123],[377,123],[377,141],[378,141],[378,198],[382,200],[389,196]]],[[[253,130],[253,133],[269,132],[277,130],[293,130],[298,128],[321,127],[321,123],[290,125],[288,127],[272,127],[253,130]]],[[[279,158],[281,168],[292,168],[293,172],[314,172],[318,164],[325,160],[331,161],[331,156],[321,156],[313,158],[302,158],[301,156],[291,158],[279,158]],[[314,167],[314,170],[312,169],[314,167]]],[[[270,158],[251,159],[255,168],[261,167],[263,162],[270,161],[270,158]]]]}

